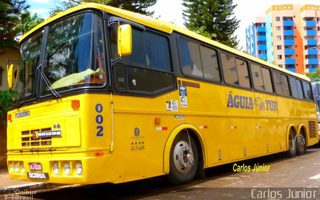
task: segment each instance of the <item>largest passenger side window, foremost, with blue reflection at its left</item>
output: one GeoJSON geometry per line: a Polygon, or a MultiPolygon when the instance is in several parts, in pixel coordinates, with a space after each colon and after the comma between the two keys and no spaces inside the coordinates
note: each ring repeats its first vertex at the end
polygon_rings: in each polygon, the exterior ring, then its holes
{"type": "Polygon", "coordinates": [[[182,72],[220,81],[216,51],[195,42],[179,38],[179,55],[182,72]]]}

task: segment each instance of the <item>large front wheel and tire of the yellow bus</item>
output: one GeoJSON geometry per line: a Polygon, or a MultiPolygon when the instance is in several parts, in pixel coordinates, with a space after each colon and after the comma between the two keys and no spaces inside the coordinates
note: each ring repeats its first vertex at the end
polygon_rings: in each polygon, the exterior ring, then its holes
{"type": "Polygon", "coordinates": [[[187,184],[193,180],[196,174],[198,151],[191,135],[189,135],[189,138],[186,132],[180,132],[173,140],[170,149],[169,174],[167,176],[167,181],[173,185],[187,184]],[[191,146],[189,144],[189,138],[191,146]],[[189,160],[190,155],[193,156],[193,165],[189,160]]]}

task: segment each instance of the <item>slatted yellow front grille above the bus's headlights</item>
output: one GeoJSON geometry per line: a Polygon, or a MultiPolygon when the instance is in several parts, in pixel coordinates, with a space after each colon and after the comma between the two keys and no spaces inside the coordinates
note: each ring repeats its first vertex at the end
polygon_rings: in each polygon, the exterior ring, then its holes
{"type": "Polygon", "coordinates": [[[50,146],[51,137],[32,138],[32,133],[37,131],[51,131],[51,128],[35,129],[21,132],[21,147],[50,146]]]}

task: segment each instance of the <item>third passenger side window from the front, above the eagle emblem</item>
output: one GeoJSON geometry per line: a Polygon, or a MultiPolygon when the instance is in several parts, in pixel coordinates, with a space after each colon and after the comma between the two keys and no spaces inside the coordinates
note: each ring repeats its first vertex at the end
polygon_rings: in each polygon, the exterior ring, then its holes
{"type": "Polygon", "coordinates": [[[270,70],[251,63],[253,86],[257,90],[273,92],[270,70]]]}

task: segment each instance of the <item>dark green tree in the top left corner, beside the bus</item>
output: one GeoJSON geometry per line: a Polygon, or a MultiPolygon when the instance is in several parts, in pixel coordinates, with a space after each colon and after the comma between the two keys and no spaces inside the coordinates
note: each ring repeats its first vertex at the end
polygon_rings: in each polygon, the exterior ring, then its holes
{"type": "Polygon", "coordinates": [[[16,35],[19,30],[14,29],[21,17],[28,15],[29,7],[26,0],[0,0],[0,48],[17,45],[16,35]]]}

